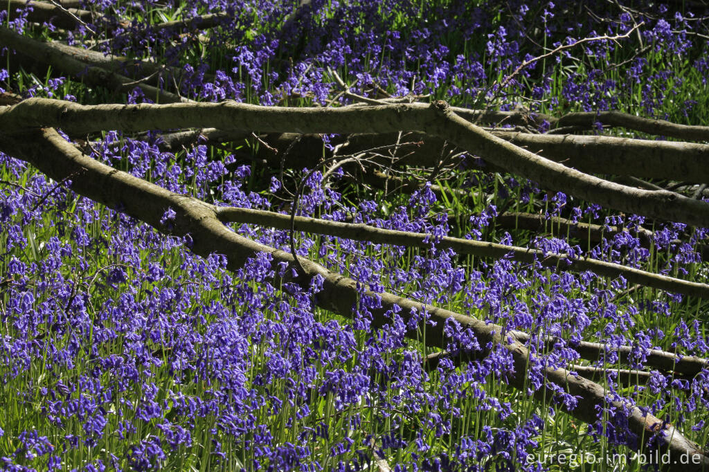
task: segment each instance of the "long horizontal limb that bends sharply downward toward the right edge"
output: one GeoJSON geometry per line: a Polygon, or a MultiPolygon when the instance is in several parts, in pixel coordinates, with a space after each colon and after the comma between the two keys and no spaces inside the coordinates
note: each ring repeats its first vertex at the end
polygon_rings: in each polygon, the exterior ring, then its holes
{"type": "Polygon", "coordinates": [[[67,132],[230,128],[264,132],[375,133],[425,130],[513,174],[585,201],[651,218],[709,226],[709,203],[669,191],[614,184],[550,161],[457,116],[445,102],[342,108],[279,108],[247,103],[97,105],[28,99],[0,110],[0,129],[60,126],[67,132]]]}

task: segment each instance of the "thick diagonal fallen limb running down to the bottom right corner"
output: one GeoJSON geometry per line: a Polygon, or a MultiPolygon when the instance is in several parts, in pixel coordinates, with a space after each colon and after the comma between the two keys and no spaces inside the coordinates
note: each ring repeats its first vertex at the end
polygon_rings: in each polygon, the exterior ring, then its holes
{"type": "MultiPolygon", "coordinates": [[[[73,145],[65,141],[53,129],[29,130],[12,137],[0,140],[3,152],[38,167],[50,178],[57,181],[71,176],[72,189],[94,201],[103,203],[109,208],[119,210],[135,218],[143,220],[157,230],[173,235],[189,235],[191,250],[196,254],[207,256],[213,252],[225,254],[228,259],[228,269],[239,269],[249,257],[258,252],[271,254],[274,262],[292,264],[293,256],[287,252],[261,245],[228,230],[216,218],[217,208],[188,196],[171,193],[147,181],[112,169],[79,152],[73,145]],[[174,226],[166,227],[160,220],[168,208],[176,212],[174,226]]],[[[323,277],[323,290],[318,293],[316,303],[327,310],[352,317],[353,308],[357,306],[360,291],[357,283],[340,274],[335,274],[325,267],[308,260],[301,260],[308,278],[320,275],[323,277]]],[[[301,280],[305,286],[308,280],[301,280]]],[[[469,318],[441,308],[425,306],[407,298],[394,296],[391,293],[365,292],[364,296],[381,300],[381,308],[372,309],[372,325],[380,327],[389,322],[386,314],[394,305],[401,307],[405,318],[415,310],[421,313],[426,310],[430,315],[431,324],[426,322],[425,343],[433,347],[445,347],[447,344],[444,327],[447,320],[455,320],[462,326],[472,330],[481,346],[492,343],[501,346],[513,357],[514,373],[508,376],[508,383],[514,388],[527,388],[527,366],[530,364],[530,352],[514,337],[502,336],[502,327],[487,324],[476,318],[469,318]]],[[[418,338],[418,334],[409,332],[418,338]]],[[[549,383],[561,386],[570,395],[574,395],[578,404],[575,408],[561,405],[571,415],[581,421],[593,423],[598,420],[597,411],[608,408],[603,386],[585,378],[574,376],[564,369],[545,369],[545,379],[549,383]]],[[[545,384],[535,392],[537,400],[552,403],[557,398],[551,384],[545,384]]],[[[627,411],[628,427],[638,437],[647,438],[659,432],[661,420],[649,414],[644,414],[640,408],[625,401],[613,402],[610,406],[627,411]]],[[[671,425],[664,425],[661,431],[664,437],[661,447],[668,449],[671,456],[679,458],[682,454],[696,459],[690,464],[671,465],[675,471],[702,471],[709,468],[709,456],[706,451],[686,439],[681,432],[671,425]]]]}

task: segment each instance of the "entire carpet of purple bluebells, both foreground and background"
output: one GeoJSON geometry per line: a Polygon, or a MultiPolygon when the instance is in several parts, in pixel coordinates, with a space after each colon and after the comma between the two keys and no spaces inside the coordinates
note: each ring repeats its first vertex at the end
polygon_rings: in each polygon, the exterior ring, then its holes
{"type": "MultiPolygon", "coordinates": [[[[686,56],[696,72],[707,67],[702,54],[708,45],[691,40],[700,24],[689,13],[661,11],[657,18],[652,9],[606,2],[592,2],[593,15],[581,21],[573,2],[511,1],[503,8],[457,0],[190,0],[181,3],[177,19],[224,13],[217,26],[191,35],[154,26],[150,8],[164,2],[91,3],[104,11],[90,27],[110,33],[100,43],[105,52],[174,67],[169,70],[182,74],[162,77],[162,86],[172,82],[199,100],[325,105],[340,91],[330,67],[353,92],[372,97],[430,93],[465,105],[512,108],[521,94],[535,99],[531,107],[540,111],[598,111],[624,103],[656,116],[670,109],[665,97],[684,93],[681,80],[669,83],[678,67],[674,58],[686,56]],[[494,80],[545,47],[623,34],[640,21],[649,26],[627,43],[584,43],[581,52],[532,62],[503,86],[494,80]],[[632,49],[635,41],[650,53],[627,57],[621,45],[632,49]],[[569,62],[581,65],[556,77],[569,62]]],[[[26,26],[26,14],[13,20],[16,30],[26,26]]],[[[68,39],[80,43],[87,35],[78,26],[68,39]]],[[[0,83],[22,88],[26,96],[57,96],[71,85],[49,79],[20,87],[18,80],[0,69],[0,83]]],[[[128,101],[147,98],[135,89],[128,101]]],[[[678,106],[693,113],[691,103],[678,106]]],[[[272,175],[238,150],[198,143],[167,152],[156,133],[109,132],[91,140],[90,152],[169,191],[220,206],[283,208],[279,198],[291,186],[287,173],[272,175]]],[[[465,172],[464,188],[474,182],[481,196],[491,196],[467,217],[461,233],[470,239],[526,245],[541,249],[542,257],[650,266],[665,274],[705,271],[695,251],[705,228],[654,223],[647,244],[645,221],[636,215],[612,215],[563,193],[547,195],[532,182],[498,181],[484,169],[465,172]],[[532,239],[503,232],[496,218],[513,204],[546,218],[595,221],[611,236],[583,247],[567,235],[532,239]]],[[[384,457],[396,471],[535,471],[541,466],[528,457],[549,447],[550,428],[559,428],[554,431],[567,442],[598,450],[608,443],[637,448],[652,439],[628,432],[632,405],[693,432],[698,442],[709,440],[709,371],[679,378],[647,365],[656,347],[709,355],[702,323],[684,318],[703,305],[687,308],[687,300],[666,293],[637,295],[644,289],[636,291],[623,278],[555,271],[540,259],[523,264],[441,249],[441,238],[459,228],[450,225],[432,184],[382,203],[376,194],[353,198],[350,188],[340,186],[344,172],[329,182],[319,171],[298,174],[306,176],[300,215],[430,235],[429,246],[414,251],[296,234],[298,256],[357,281],[359,301],[352,321],[345,321],[316,305],[323,279],[307,288],[281,283],[277,275],[292,268],[274,264],[269,254],[255,254],[228,271],[218,250],[196,257],[189,238],[160,235],[13,157],[0,154],[0,173],[4,470],[353,471],[384,457]],[[525,388],[507,385],[515,373],[507,349],[481,343],[452,320],[444,327],[451,356],[427,369],[425,328],[440,321],[426,310],[406,313],[395,305],[386,313],[388,322],[374,330],[381,291],[457,310],[506,332],[526,332],[531,355],[525,388]],[[591,366],[606,369],[601,382],[607,403],[587,428],[552,426],[579,398],[564,386],[545,385],[544,371],[578,369],[584,340],[605,349],[591,366]],[[628,346],[627,367],[650,370],[644,385],[627,386],[614,371],[618,348],[628,346]],[[460,353],[470,360],[456,366],[454,354],[460,353]],[[540,388],[553,393],[549,405],[532,398],[540,388]],[[579,429],[577,437],[569,437],[571,429],[579,429]]],[[[169,233],[176,218],[174,209],[165,208],[160,229],[169,233]]],[[[230,227],[290,251],[288,231],[230,227]]]]}

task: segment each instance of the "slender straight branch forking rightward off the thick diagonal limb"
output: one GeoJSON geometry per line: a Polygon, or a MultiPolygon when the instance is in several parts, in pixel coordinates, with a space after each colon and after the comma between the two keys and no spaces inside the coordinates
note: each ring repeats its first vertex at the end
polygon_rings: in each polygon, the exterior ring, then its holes
{"type": "MultiPolygon", "coordinates": [[[[275,227],[280,230],[291,229],[291,218],[289,215],[282,215],[281,213],[271,211],[219,207],[216,209],[216,215],[222,222],[254,223],[262,226],[275,227]]],[[[432,238],[431,235],[386,230],[362,223],[340,223],[337,221],[296,216],[294,218],[294,224],[294,229],[296,230],[313,232],[319,235],[345,237],[350,240],[408,247],[431,246],[431,242],[427,241],[432,238]]],[[[642,271],[640,269],[621,266],[620,264],[598,261],[596,259],[569,259],[564,255],[544,254],[539,249],[498,245],[493,242],[463,240],[457,237],[447,236],[442,237],[441,240],[436,243],[436,246],[441,248],[450,247],[458,254],[473,254],[479,257],[493,257],[496,259],[511,257],[511,259],[515,261],[526,263],[532,263],[538,260],[545,266],[558,267],[564,270],[593,271],[596,274],[607,277],[623,276],[630,283],[640,283],[644,286],[683,293],[688,296],[709,298],[709,285],[705,283],[683,281],[668,276],[652,274],[651,272],[642,271]]]]}

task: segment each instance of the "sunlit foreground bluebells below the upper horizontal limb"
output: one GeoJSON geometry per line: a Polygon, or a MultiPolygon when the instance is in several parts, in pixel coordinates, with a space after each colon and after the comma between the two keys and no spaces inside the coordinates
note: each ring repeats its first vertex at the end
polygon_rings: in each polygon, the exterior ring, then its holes
{"type": "MultiPolygon", "coordinates": [[[[115,133],[94,148],[96,158],[127,160],[135,175],[150,172],[168,189],[201,198],[209,198],[211,189],[218,202],[269,208],[264,196],[246,190],[247,168],[212,167],[203,160],[202,146],[185,154],[187,163],[196,163],[185,172],[170,164],[173,154],[115,133]]],[[[427,313],[407,320],[408,314],[393,310],[390,324],[371,332],[370,313],[379,301],[362,296],[353,307],[354,324],[332,320],[313,305],[322,280],[313,280],[309,291],[294,284],[279,290],[273,278],[281,269],[267,254],[230,274],[223,257],[196,257],[184,241],[157,235],[132,218],[77,198],[15,159],[3,159],[18,181],[27,182],[26,189],[2,190],[3,250],[9,257],[1,292],[7,333],[0,353],[3,381],[17,393],[13,408],[23,412],[17,417],[23,422],[4,425],[4,434],[21,444],[5,457],[8,466],[67,463],[75,451],[91,448],[107,452],[86,459],[87,468],[113,463],[147,470],[208,448],[200,461],[245,457],[251,468],[339,463],[335,468],[348,470],[372,460],[368,445],[374,441],[384,456],[398,457],[401,470],[407,463],[406,470],[446,470],[454,462],[482,470],[490,461],[520,466],[537,447],[542,417],[518,417],[509,394],[493,388],[493,379],[505,381],[513,373],[506,350],[494,349],[463,370],[442,362],[427,372],[421,352],[405,341],[427,313]],[[40,416],[46,421],[42,434],[22,428],[26,421],[39,425],[40,416]],[[123,456],[113,455],[116,442],[125,442],[118,448],[123,456]]],[[[319,174],[311,175],[317,186],[319,174]]],[[[374,202],[348,208],[333,191],[301,198],[306,215],[327,211],[327,203],[330,219],[352,214],[355,221],[380,227],[449,232],[446,219],[429,216],[437,203],[430,186],[388,216],[374,202]]],[[[477,224],[488,225],[494,215],[491,206],[477,224]]],[[[162,224],[174,216],[167,209],[162,224]]],[[[288,248],[288,232],[248,225],[237,230],[288,248]]],[[[682,230],[670,225],[658,231],[655,244],[673,244],[682,230]]],[[[632,238],[632,232],[625,237],[632,238]]],[[[709,349],[698,322],[674,331],[638,326],[641,313],[669,316],[671,306],[613,302],[627,288],[622,281],[604,286],[592,276],[556,274],[539,263],[507,259],[480,262],[478,270],[468,271],[450,249],[436,249],[435,239],[431,243],[432,249],[415,255],[408,267],[383,259],[381,246],[342,238],[324,237],[317,245],[312,237],[303,238],[298,252],[306,257],[315,251],[363,288],[406,291],[436,305],[462,304],[470,315],[529,332],[530,392],[544,382],[541,369],[572,369],[579,359],[574,342],[589,337],[605,340],[611,365],[613,347],[632,345],[634,368],[642,368],[644,353],[666,336],[678,339],[676,348],[686,353],[706,355],[709,349]],[[544,347],[547,336],[559,338],[552,351],[544,347]]],[[[564,240],[538,244],[546,251],[570,250],[564,240]]],[[[403,247],[391,250],[406,253],[403,247]]],[[[446,332],[450,352],[489,349],[455,323],[446,332]]],[[[615,390],[620,384],[612,377],[609,399],[627,398],[615,390]]],[[[674,421],[682,424],[696,417],[700,405],[709,406],[704,386],[705,376],[676,381],[654,372],[631,398],[652,405],[658,415],[672,402],[678,411],[674,421]],[[670,383],[677,396],[666,395],[670,383]],[[647,398],[653,401],[640,401],[647,398]]],[[[575,400],[560,391],[559,402],[575,400]]],[[[600,422],[596,427],[608,432],[600,422]]],[[[627,443],[619,438],[610,436],[627,443]]]]}

